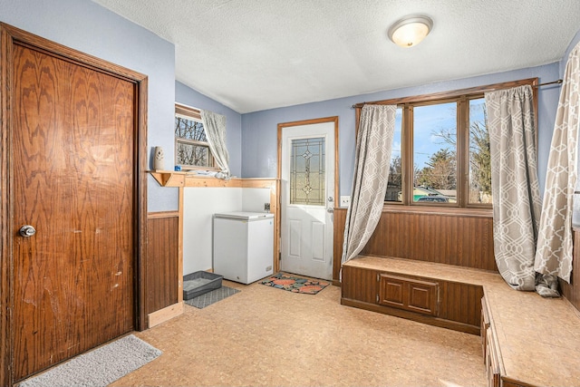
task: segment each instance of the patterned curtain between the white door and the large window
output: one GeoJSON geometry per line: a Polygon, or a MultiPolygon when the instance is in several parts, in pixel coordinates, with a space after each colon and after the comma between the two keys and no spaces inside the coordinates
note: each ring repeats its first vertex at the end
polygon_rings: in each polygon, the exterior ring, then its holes
{"type": "Polygon", "coordinates": [[[391,164],[396,105],[362,106],[342,262],[357,256],[381,218],[391,164]]]}

